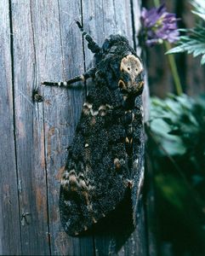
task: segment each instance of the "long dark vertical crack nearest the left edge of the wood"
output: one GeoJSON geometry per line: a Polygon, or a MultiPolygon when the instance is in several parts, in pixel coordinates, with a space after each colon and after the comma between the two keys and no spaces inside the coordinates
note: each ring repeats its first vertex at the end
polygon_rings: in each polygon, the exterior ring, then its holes
{"type": "Polygon", "coordinates": [[[17,146],[16,146],[16,122],[15,122],[15,92],[14,92],[14,31],[12,24],[12,6],[11,0],[9,0],[9,30],[10,30],[10,56],[11,56],[11,82],[12,82],[12,96],[13,96],[13,124],[14,124],[14,161],[15,161],[15,172],[16,172],[16,183],[17,183],[17,198],[19,207],[19,227],[20,227],[20,251],[22,253],[22,235],[21,235],[21,225],[20,225],[20,190],[19,183],[20,177],[18,174],[18,164],[17,164],[17,146]]]}

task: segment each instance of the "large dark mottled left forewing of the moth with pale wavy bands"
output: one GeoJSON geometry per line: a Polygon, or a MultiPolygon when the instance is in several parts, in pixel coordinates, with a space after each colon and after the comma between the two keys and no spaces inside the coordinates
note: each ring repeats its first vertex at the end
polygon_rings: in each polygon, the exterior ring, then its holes
{"type": "Polygon", "coordinates": [[[60,187],[60,218],[71,236],[105,217],[128,189],[124,127],[117,114],[107,104],[83,105],[60,187]]]}

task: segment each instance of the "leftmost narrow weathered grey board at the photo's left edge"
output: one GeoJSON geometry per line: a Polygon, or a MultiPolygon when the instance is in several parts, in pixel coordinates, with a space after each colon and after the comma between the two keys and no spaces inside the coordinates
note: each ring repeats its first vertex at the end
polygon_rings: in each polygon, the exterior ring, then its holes
{"type": "Polygon", "coordinates": [[[14,148],[9,3],[0,2],[0,254],[20,254],[20,210],[14,148]]]}

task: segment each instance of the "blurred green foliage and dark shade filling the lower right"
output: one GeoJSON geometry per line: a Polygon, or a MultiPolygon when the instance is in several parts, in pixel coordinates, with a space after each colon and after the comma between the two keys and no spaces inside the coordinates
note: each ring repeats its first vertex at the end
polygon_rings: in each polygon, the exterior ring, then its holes
{"type": "Polygon", "coordinates": [[[147,133],[162,240],[205,255],[205,96],[152,98],[147,133]]]}

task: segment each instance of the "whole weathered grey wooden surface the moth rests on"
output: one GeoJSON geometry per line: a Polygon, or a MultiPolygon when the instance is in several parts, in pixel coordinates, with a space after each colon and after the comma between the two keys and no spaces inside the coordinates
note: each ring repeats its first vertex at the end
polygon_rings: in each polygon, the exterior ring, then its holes
{"type": "Polygon", "coordinates": [[[74,20],[83,21],[99,44],[121,33],[135,46],[139,13],[132,0],[0,2],[0,254],[148,254],[143,204],[137,228],[129,233],[122,226],[114,234],[65,235],[60,176],[86,89],[40,87],[41,81],[70,79],[90,65],[92,55],[74,20]],[[42,103],[32,101],[37,88],[42,103]]]}

